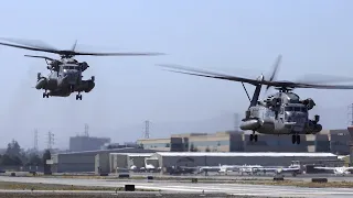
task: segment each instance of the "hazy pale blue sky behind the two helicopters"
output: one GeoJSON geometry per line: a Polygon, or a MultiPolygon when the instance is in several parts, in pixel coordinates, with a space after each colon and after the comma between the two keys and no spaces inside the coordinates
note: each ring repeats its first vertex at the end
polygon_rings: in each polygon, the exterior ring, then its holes
{"type": "MultiPolygon", "coordinates": [[[[84,76],[94,75],[96,87],[76,101],[74,95],[43,99],[43,91],[33,88],[36,74],[49,70],[43,59],[23,55],[44,53],[0,46],[0,146],[15,139],[23,147],[32,147],[38,129],[40,147],[52,131],[55,146],[64,148],[68,136],[83,133],[85,123],[90,135],[132,141],[141,138],[145,120],[199,122],[234,112],[243,116],[248,107],[238,82],[172,74],[156,64],[255,78],[268,75],[282,54],[278,79],[295,80],[307,74],[350,76],[352,6],[349,0],[4,0],[0,37],[41,40],[63,50],[78,40],[77,51],[167,55],[77,56],[90,65],[84,76]],[[141,130],[119,130],[130,125],[141,130]]],[[[247,87],[252,92],[253,87],[247,87]]],[[[296,91],[313,98],[325,118],[336,117],[330,109],[346,109],[353,97],[351,90],[296,91]]],[[[327,121],[323,128],[344,128],[344,122],[327,121]]],[[[163,132],[154,134],[159,135],[163,132]]]]}

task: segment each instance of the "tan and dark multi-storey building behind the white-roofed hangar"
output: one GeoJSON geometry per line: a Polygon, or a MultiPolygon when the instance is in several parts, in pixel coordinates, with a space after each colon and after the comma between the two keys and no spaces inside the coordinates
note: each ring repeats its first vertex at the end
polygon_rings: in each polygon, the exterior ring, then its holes
{"type": "Polygon", "coordinates": [[[170,152],[324,152],[346,155],[349,132],[322,130],[312,135],[301,135],[301,143],[292,144],[291,135],[259,134],[257,142],[249,141],[249,132],[217,132],[174,134],[168,139],[138,140],[141,147],[170,152]]]}

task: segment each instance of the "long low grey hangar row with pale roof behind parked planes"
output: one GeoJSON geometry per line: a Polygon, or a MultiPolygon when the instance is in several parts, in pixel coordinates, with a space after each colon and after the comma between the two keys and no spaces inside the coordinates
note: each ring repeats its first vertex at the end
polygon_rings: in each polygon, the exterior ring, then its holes
{"type": "Polygon", "coordinates": [[[289,166],[292,162],[342,166],[343,161],[331,153],[275,153],[275,152],[156,152],[141,148],[103,150],[54,154],[53,173],[117,173],[136,165],[152,164],[162,173],[175,166],[264,165],[289,166]]]}

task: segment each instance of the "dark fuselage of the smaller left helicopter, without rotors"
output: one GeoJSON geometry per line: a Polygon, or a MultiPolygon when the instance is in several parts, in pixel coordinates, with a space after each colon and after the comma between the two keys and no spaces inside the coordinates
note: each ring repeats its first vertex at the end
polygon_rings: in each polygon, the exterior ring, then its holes
{"type": "Polygon", "coordinates": [[[47,77],[41,77],[39,74],[35,88],[44,89],[49,91],[46,95],[55,97],[68,97],[75,91],[89,92],[95,87],[94,77],[83,80],[82,70],[79,64],[63,63],[53,68],[47,77]]]}

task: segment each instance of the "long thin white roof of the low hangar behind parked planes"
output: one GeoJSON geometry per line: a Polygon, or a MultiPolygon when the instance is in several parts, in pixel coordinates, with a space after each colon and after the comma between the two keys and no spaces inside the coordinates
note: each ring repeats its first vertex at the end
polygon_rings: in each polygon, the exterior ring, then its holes
{"type": "Polygon", "coordinates": [[[296,156],[296,157],[329,157],[336,156],[332,153],[275,153],[275,152],[252,152],[252,153],[221,153],[221,152],[157,152],[161,156],[296,156]]]}

